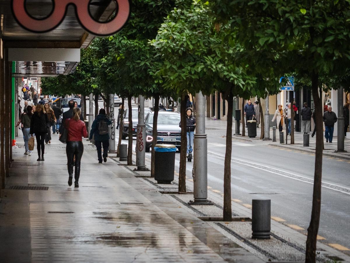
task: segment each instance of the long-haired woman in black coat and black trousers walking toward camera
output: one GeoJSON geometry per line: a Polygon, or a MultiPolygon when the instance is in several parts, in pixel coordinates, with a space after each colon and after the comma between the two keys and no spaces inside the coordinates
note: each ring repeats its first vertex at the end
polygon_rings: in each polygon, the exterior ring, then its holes
{"type": "Polygon", "coordinates": [[[30,134],[35,134],[36,137],[36,144],[39,156],[37,161],[44,161],[45,134],[47,134],[48,132],[47,126],[49,125],[49,123],[50,121],[47,114],[45,113],[44,106],[42,104],[38,104],[30,121],[30,134]]]}

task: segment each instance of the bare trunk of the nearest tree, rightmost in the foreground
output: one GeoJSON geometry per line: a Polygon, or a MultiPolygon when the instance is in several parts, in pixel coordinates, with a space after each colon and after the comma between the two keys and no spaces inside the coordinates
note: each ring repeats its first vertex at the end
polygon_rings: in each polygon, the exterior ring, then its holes
{"type": "Polygon", "coordinates": [[[322,121],[322,99],[318,92],[318,73],[312,72],[311,77],[312,94],[316,108],[316,156],[315,156],[315,174],[314,191],[312,199],[311,220],[308,228],[306,240],[306,263],[316,262],[316,244],[317,233],[320,225],[321,214],[321,179],[322,179],[322,152],[323,152],[323,121],[322,121]]]}

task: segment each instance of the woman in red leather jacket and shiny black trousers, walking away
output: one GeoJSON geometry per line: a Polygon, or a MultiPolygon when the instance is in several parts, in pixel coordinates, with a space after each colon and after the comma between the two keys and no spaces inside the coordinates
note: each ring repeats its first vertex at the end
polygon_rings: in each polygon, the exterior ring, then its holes
{"type": "Polygon", "coordinates": [[[87,137],[86,126],[80,118],[81,110],[79,107],[73,109],[73,117],[72,119],[66,120],[65,127],[68,130],[68,140],[66,147],[66,154],[68,159],[68,185],[72,185],[73,179],[73,159],[75,156],[75,182],[74,186],[79,187],[78,181],[80,176],[80,160],[83,156],[84,146],[82,142],[82,137],[87,137]]]}

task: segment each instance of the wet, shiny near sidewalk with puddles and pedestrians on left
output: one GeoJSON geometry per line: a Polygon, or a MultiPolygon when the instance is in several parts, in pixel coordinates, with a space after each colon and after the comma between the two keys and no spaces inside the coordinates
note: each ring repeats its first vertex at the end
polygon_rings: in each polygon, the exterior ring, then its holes
{"type": "Polygon", "coordinates": [[[43,162],[18,141],[0,199],[1,262],[263,262],[120,163],[99,164],[86,140],[79,188],[58,135],[43,162]]]}

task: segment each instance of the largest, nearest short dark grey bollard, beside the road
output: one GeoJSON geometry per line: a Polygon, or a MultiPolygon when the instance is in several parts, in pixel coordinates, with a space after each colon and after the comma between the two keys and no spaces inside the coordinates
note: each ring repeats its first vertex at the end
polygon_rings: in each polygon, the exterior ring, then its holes
{"type": "Polygon", "coordinates": [[[271,200],[252,202],[252,238],[270,238],[271,200]]]}

